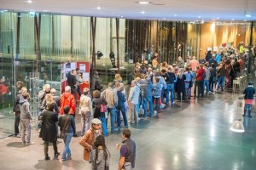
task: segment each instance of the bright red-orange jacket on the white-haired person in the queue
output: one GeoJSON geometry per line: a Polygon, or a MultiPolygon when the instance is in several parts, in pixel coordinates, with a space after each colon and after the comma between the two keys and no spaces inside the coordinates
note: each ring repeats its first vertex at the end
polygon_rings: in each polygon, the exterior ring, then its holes
{"type": "Polygon", "coordinates": [[[76,101],[73,97],[73,94],[70,92],[65,92],[61,94],[61,106],[60,106],[60,114],[63,115],[64,106],[67,105],[70,108],[69,114],[74,115],[76,111],[76,101]]]}

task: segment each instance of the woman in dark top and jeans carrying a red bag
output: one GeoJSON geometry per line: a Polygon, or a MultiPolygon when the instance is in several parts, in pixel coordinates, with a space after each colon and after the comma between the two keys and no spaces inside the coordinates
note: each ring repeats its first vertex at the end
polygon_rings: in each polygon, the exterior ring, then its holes
{"type": "Polygon", "coordinates": [[[107,119],[106,119],[106,112],[107,112],[107,104],[105,98],[101,97],[101,92],[99,90],[95,90],[92,93],[92,108],[94,109],[94,118],[100,119],[102,121],[102,132],[103,135],[108,135],[107,129],[107,119]]]}

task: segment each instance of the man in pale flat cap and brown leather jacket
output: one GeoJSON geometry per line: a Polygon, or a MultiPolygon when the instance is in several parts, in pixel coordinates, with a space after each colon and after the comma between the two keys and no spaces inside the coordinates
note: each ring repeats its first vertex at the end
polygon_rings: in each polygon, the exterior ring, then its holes
{"type": "Polygon", "coordinates": [[[79,144],[84,147],[84,160],[89,161],[90,150],[95,142],[97,136],[102,135],[101,132],[102,122],[99,119],[92,119],[91,127],[84,136],[79,140],[79,144]]]}

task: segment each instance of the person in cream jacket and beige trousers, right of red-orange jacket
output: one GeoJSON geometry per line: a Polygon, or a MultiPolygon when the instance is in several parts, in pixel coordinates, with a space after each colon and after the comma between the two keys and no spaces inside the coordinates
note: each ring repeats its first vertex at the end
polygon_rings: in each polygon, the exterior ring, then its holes
{"type": "Polygon", "coordinates": [[[81,136],[90,129],[90,116],[94,115],[92,110],[92,101],[89,96],[89,88],[84,88],[84,94],[80,98],[80,111],[81,115],[81,136]]]}

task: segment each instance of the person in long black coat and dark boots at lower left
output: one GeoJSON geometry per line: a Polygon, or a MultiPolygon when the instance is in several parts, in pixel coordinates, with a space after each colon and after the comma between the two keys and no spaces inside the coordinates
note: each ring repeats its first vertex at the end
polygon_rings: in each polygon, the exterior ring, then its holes
{"type": "Polygon", "coordinates": [[[59,156],[61,152],[57,148],[57,129],[55,122],[58,122],[58,116],[55,114],[55,102],[47,103],[46,109],[42,112],[40,120],[42,120],[42,127],[39,137],[44,140],[44,156],[45,160],[50,159],[48,155],[49,142],[53,144],[55,150],[55,157],[59,156]]]}

